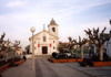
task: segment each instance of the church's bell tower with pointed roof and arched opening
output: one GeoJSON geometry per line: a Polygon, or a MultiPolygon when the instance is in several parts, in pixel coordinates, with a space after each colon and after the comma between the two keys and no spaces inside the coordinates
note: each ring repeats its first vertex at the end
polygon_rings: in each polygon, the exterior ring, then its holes
{"type": "Polygon", "coordinates": [[[48,25],[48,28],[49,28],[49,33],[58,36],[58,24],[56,23],[53,18],[52,18],[50,24],[48,25]]]}

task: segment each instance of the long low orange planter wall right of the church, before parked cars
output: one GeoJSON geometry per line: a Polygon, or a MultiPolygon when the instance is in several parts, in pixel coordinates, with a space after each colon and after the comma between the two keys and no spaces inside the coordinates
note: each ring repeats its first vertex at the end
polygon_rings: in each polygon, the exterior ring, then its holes
{"type": "Polygon", "coordinates": [[[68,59],[53,59],[53,58],[48,58],[48,61],[52,63],[72,63],[72,62],[82,62],[82,58],[68,58],[68,59]]]}

